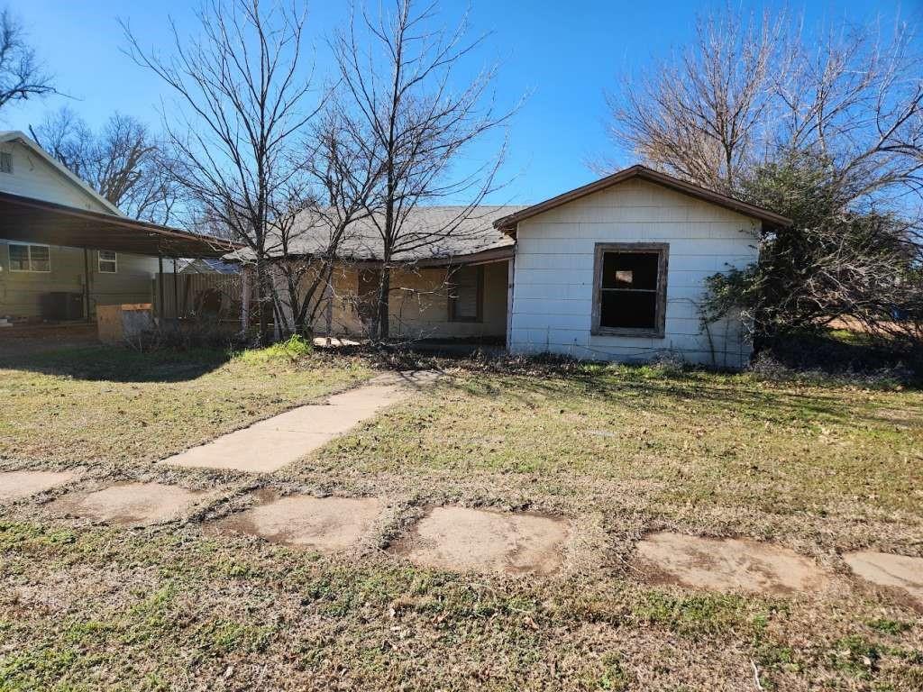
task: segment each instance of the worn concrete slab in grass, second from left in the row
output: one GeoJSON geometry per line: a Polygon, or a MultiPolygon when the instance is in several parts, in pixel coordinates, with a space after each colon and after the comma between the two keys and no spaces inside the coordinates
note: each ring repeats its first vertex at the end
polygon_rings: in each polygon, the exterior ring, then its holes
{"type": "Polygon", "coordinates": [[[162,483],[116,483],[89,494],[65,495],[49,507],[59,514],[144,526],[180,519],[205,493],[162,483]]]}

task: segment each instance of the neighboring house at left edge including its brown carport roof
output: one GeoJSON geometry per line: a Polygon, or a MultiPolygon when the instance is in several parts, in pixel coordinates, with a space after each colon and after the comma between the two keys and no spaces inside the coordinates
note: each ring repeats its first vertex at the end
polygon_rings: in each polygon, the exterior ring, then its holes
{"type": "Polygon", "coordinates": [[[214,257],[228,245],[130,219],[30,137],[0,132],[0,318],[152,303],[158,256],[214,257]]]}

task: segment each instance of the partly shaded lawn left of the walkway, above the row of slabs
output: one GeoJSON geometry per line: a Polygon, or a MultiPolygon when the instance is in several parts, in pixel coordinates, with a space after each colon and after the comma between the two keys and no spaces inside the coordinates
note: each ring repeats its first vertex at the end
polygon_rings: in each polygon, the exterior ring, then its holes
{"type": "Polygon", "coordinates": [[[288,344],[242,355],[86,346],[0,357],[0,459],[161,459],[370,376],[361,361],[288,344]]]}

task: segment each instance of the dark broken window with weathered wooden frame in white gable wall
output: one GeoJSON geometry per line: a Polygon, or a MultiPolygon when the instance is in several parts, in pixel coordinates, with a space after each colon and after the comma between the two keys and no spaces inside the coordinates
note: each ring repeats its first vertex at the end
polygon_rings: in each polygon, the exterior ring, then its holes
{"type": "Polygon", "coordinates": [[[596,245],[593,333],[664,337],[668,250],[660,243],[596,245]]]}

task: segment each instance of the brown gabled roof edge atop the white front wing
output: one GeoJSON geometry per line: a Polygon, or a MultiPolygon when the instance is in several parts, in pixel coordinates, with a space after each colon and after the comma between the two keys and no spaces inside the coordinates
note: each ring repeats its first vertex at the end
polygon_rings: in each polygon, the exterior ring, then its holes
{"type": "Polygon", "coordinates": [[[573,190],[570,190],[569,192],[565,192],[563,195],[545,199],[544,202],[539,202],[538,204],[534,204],[532,207],[521,209],[521,211],[516,211],[512,214],[509,214],[508,216],[504,216],[501,219],[497,219],[497,221],[494,221],[494,227],[503,233],[508,233],[509,235],[515,237],[516,225],[520,221],[531,219],[533,216],[537,216],[538,214],[544,213],[550,209],[560,207],[561,205],[572,202],[575,199],[580,199],[581,197],[592,195],[594,192],[605,190],[607,187],[618,185],[619,183],[624,183],[635,178],[646,180],[648,183],[653,183],[654,185],[662,185],[664,187],[668,187],[671,190],[676,190],[677,192],[680,192],[684,195],[689,195],[689,197],[697,197],[699,199],[703,199],[706,202],[711,202],[712,204],[717,205],[718,207],[724,207],[725,209],[737,211],[744,216],[749,216],[753,219],[765,221],[773,227],[792,225],[791,219],[786,219],[784,216],[776,214],[769,209],[762,209],[761,207],[748,204],[747,202],[735,199],[734,197],[727,197],[726,195],[722,195],[721,193],[706,189],[700,185],[687,183],[685,180],[680,180],[679,178],[675,178],[672,175],[659,173],[653,169],[647,168],[646,166],[635,165],[631,166],[630,168],[626,168],[623,171],[619,171],[618,173],[607,175],[605,178],[601,178],[600,180],[590,183],[589,185],[577,187],[573,190]]]}

